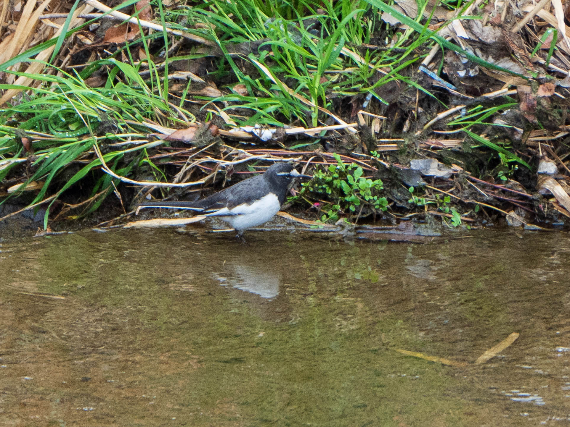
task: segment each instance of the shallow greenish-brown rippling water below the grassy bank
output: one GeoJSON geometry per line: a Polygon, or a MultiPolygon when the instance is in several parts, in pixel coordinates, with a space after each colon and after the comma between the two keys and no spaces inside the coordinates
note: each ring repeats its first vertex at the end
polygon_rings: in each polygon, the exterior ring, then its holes
{"type": "Polygon", "coordinates": [[[1,244],[0,425],[570,423],[566,235],[247,239],[1,244]]]}

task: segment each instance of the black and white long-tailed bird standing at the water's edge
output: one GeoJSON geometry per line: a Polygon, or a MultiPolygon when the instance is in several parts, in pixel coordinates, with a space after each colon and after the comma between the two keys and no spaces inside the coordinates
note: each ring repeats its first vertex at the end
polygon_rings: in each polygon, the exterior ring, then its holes
{"type": "Polygon", "coordinates": [[[243,239],[243,232],[270,220],[285,202],[287,188],[295,178],[312,178],[290,163],[274,163],[260,175],[245,179],[196,202],[144,202],[141,208],[188,209],[226,221],[243,239]]]}

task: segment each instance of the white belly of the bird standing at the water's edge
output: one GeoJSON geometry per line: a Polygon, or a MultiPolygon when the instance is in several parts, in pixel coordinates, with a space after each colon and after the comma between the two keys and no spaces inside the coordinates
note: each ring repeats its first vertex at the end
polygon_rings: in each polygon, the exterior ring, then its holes
{"type": "Polygon", "coordinates": [[[280,207],[277,196],[270,193],[252,204],[236,206],[231,210],[236,215],[223,216],[223,210],[220,210],[216,216],[221,216],[231,227],[242,231],[266,223],[274,217],[275,213],[279,212],[280,207]]]}

